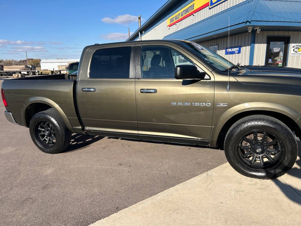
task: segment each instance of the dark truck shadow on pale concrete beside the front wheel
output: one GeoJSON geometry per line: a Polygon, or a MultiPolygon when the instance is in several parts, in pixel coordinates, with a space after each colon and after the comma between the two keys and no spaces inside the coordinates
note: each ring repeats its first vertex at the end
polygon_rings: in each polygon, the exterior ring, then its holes
{"type": "MultiPolygon", "coordinates": [[[[301,142],[297,140],[298,149],[299,149],[299,159],[296,161],[295,166],[290,169],[287,174],[293,176],[293,181],[298,181],[301,183],[301,142]],[[296,167],[297,166],[297,167],[296,167]]],[[[281,177],[272,180],[280,189],[281,191],[293,202],[298,203],[301,205],[301,190],[294,187],[292,184],[287,184],[281,177]],[[293,190],[292,190],[293,189],[293,190]]]]}

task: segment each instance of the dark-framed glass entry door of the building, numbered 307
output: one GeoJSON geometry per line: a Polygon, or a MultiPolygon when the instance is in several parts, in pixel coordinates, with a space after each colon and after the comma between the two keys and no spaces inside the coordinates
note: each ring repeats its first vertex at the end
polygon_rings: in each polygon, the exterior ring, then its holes
{"type": "Polygon", "coordinates": [[[287,66],[288,43],[289,37],[268,37],[265,65],[287,66]]]}

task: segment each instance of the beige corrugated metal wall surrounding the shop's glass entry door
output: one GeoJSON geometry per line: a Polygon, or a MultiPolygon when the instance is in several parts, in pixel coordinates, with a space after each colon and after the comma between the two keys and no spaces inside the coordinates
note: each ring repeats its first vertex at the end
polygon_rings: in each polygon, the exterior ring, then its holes
{"type": "Polygon", "coordinates": [[[290,36],[287,67],[301,68],[301,56],[290,55],[292,44],[301,43],[301,32],[297,31],[261,31],[259,34],[256,33],[254,65],[265,64],[267,36],[290,36]]]}

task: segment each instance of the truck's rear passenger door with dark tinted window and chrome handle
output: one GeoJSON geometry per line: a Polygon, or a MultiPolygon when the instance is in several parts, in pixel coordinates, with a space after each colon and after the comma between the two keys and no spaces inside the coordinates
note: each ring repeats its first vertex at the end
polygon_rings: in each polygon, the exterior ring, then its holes
{"type": "Polygon", "coordinates": [[[87,53],[91,54],[88,76],[81,74],[78,87],[85,129],[91,134],[138,138],[135,47],[102,48],[87,53]]]}

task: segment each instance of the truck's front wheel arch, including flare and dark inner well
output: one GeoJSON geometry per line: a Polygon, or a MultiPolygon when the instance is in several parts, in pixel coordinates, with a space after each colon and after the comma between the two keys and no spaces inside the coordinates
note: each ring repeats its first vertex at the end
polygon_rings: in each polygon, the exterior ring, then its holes
{"type": "Polygon", "coordinates": [[[268,115],[284,122],[296,135],[301,136],[300,114],[294,109],[270,102],[251,102],[236,105],[225,111],[213,127],[209,146],[216,147],[225,139],[229,128],[239,119],[250,115],[268,115]]]}

